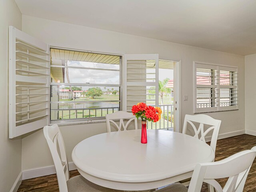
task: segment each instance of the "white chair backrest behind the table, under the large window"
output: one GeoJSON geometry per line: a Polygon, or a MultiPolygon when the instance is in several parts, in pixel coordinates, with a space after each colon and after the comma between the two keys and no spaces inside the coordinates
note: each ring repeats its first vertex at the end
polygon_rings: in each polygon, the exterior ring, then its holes
{"type": "Polygon", "coordinates": [[[112,114],[106,114],[106,123],[107,123],[107,131],[111,132],[111,126],[110,122],[112,122],[117,128],[118,131],[121,131],[121,128],[124,128],[124,131],[126,131],[128,124],[134,120],[135,129],[138,129],[138,123],[137,118],[129,112],[126,111],[117,111],[112,114]],[[129,119],[126,124],[124,124],[124,119],[129,119]],[[119,125],[114,122],[114,120],[119,120],[119,125]]]}

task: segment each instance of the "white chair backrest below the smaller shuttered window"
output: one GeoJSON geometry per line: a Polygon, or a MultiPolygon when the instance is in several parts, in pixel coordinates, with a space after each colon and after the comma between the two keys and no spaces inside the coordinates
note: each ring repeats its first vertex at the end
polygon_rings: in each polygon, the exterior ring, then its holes
{"type": "Polygon", "coordinates": [[[199,115],[186,115],[185,119],[184,119],[184,124],[183,124],[183,130],[182,133],[186,134],[187,132],[187,126],[188,123],[191,124],[192,128],[194,129],[195,138],[198,138],[204,142],[205,141],[205,136],[211,131],[213,130],[212,133],[212,138],[211,138],[211,144],[210,146],[212,147],[212,149],[216,150],[216,144],[217,144],[217,139],[218,139],[218,133],[220,130],[220,123],[221,120],[216,120],[208,115],[204,115],[204,114],[199,114],[199,115]],[[198,129],[196,129],[196,126],[194,125],[193,122],[197,122],[199,123],[199,127],[198,129]],[[204,125],[210,125],[211,127],[208,128],[206,131],[204,131],[204,125]],[[201,134],[200,138],[199,138],[199,134],[201,134]]]}

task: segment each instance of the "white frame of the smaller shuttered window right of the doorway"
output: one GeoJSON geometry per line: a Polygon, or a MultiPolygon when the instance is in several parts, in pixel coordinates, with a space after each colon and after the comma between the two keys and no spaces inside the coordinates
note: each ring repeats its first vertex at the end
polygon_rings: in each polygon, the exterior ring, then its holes
{"type": "MultiPolygon", "coordinates": [[[[200,67],[199,67],[200,68],[200,67]]],[[[211,76],[212,77],[212,76],[211,76]]],[[[234,73],[232,73],[232,82],[234,83],[234,73]]],[[[212,64],[212,63],[206,63],[206,62],[193,62],[193,111],[194,114],[198,114],[198,113],[208,113],[208,112],[221,112],[221,111],[230,111],[230,110],[238,110],[238,66],[227,66],[227,65],[219,65],[219,64],[212,64]],[[204,68],[206,69],[211,69],[211,67],[215,67],[216,71],[217,71],[217,84],[216,84],[216,99],[217,99],[217,103],[216,103],[216,107],[206,107],[206,108],[197,108],[197,68],[199,66],[204,66],[204,68]],[[208,68],[207,68],[208,67],[208,68]],[[226,70],[226,71],[233,71],[236,72],[236,86],[233,86],[235,88],[233,88],[232,92],[230,94],[236,94],[237,95],[237,100],[236,100],[236,104],[232,105],[232,106],[220,106],[220,89],[224,88],[225,85],[220,85],[220,71],[226,70]],[[234,91],[236,91],[236,93],[234,93],[234,91]]],[[[211,82],[212,83],[212,82],[211,82]]],[[[233,98],[231,98],[233,99],[233,98]]],[[[230,100],[230,103],[232,103],[234,101],[230,100]]]]}

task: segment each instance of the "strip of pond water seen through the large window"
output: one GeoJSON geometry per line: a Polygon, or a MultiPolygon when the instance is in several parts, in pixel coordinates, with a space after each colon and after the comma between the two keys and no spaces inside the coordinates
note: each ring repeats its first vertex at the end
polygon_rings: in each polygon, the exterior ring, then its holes
{"type": "MultiPolygon", "coordinates": [[[[118,102],[76,103],[76,108],[112,108],[119,107],[118,102]]],[[[60,103],[59,109],[74,109],[74,103],[60,103]]]]}

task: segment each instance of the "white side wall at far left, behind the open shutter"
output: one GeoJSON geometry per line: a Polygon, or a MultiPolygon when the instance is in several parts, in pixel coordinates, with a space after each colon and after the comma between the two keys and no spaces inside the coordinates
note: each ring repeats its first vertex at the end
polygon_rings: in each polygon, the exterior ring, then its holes
{"type": "Polygon", "coordinates": [[[8,26],[21,30],[22,15],[14,0],[0,1],[0,191],[11,190],[21,172],[21,138],[9,138],[8,26]]]}

